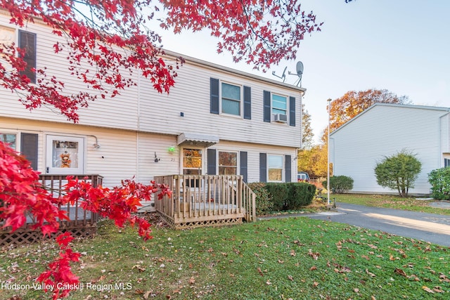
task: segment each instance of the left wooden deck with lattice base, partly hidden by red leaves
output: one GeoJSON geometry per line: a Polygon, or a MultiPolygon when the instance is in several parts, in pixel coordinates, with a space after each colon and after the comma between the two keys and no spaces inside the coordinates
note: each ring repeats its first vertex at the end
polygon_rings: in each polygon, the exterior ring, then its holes
{"type": "MultiPolygon", "coordinates": [[[[50,175],[41,174],[39,181],[42,187],[53,193],[54,197],[62,195],[63,186],[67,183],[65,179],[68,175],[50,175]]],[[[92,185],[101,185],[103,177],[99,175],[75,175],[74,178],[79,178],[90,181],[92,185]]],[[[79,207],[78,200],[74,204],[65,204],[60,209],[68,211],[68,217],[70,221],[60,221],[60,231],[70,231],[75,237],[91,237],[96,234],[97,230],[97,214],[85,211],[79,207]]],[[[39,230],[33,229],[34,220],[32,216],[27,217],[27,223],[25,226],[15,230],[14,233],[10,233],[11,228],[1,228],[3,220],[0,219],[0,247],[9,244],[26,244],[42,240],[43,236],[39,230]]],[[[55,233],[52,235],[59,234],[55,233]]]]}

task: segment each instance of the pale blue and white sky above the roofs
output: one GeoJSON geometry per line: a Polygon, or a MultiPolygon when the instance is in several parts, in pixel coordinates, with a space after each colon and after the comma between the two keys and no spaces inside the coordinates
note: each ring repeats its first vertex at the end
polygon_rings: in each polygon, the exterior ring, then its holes
{"type": "MultiPolygon", "coordinates": [[[[408,96],[413,104],[450,107],[450,1],[449,0],[305,0],[321,32],[306,35],[295,61],[283,61],[269,72],[233,63],[217,53],[217,39],[207,32],[160,32],[163,47],[211,63],[280,80],[285,67],[295,72],[304,65],[303,103],[311,115],[315,143],[328,125],[328,98],[347,91],[387,89],[408,96]]],[[[294,75],[285,83],[294,84],[294,75]]]]}

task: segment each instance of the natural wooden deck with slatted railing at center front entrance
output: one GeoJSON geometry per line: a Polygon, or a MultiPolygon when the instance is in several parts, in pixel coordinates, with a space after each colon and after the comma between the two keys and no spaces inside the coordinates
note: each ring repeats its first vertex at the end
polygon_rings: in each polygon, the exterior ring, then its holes
{"type": "Polygon", "coordinates": [[[172,228],[255,221],[255,193],[236,175],[155,176],[172,190],[155,209],[172,228]]]}

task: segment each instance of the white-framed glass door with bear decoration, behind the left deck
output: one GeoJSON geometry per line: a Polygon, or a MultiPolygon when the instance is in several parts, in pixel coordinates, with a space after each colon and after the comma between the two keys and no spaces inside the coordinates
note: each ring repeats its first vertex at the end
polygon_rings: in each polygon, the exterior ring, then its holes
{"type": "Polygon", "coordinates": [[[83,153],[83,138],[47,136],[46,172],[83,174],[83,153]]]}

